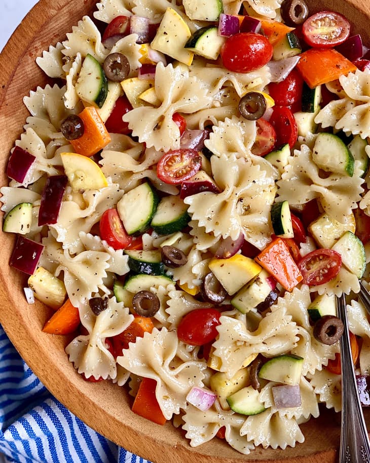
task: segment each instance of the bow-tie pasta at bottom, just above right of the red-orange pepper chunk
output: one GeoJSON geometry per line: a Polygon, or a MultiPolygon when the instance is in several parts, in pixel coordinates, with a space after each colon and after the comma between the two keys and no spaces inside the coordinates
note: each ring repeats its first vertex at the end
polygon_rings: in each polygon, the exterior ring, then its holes
{"type": "Polygon", "coordinates": [[[172,369],[177,346],[176,332],[155,328],[143,338],[136,338],[124,355],[117,357],[117,363],[126,370],[157,381],[156,398],[167,419],[186,408],[186,397],[193,386],[202,387],[206,368],[204,362],[191,361],[172,369]]]}

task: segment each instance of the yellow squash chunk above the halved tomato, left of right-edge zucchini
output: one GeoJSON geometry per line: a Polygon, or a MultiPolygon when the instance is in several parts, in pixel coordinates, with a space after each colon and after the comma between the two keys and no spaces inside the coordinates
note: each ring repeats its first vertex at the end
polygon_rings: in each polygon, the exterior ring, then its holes
{"type": "Polygon", "coordinates": [[[353,213],[341,224],[336,219],[323,213],[308,227],[309,232],[320,247],[331,248],[346,231],[352,233],[356,230],[356,221],[353,213]]]}

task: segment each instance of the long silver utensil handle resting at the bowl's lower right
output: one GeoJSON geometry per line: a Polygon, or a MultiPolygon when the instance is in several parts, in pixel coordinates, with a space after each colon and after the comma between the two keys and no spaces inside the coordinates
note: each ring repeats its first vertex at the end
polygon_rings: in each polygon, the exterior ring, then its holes
{"type": "MultiPolygon", "coordinates": [[[[370,300],[370,298],[369,298],[370,300]]],[[[344,325],[340,340],[342,367],[342,429],[339,463],[370,463],[370,443],[358,395],[349,339],[345,296],[337,297],[337,311],[344,325]]]]}

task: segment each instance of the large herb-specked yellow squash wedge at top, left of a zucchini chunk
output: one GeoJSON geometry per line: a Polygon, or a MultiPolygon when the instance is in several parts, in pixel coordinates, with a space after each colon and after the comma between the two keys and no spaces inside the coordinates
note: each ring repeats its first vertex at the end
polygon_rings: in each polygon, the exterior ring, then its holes
{"type": "Polygon", "coordinates": [[[167,8],[151,47],[190,66],[194,53],[184,45],[191,35],[188,24],[181,16],[172,8],[167,8]]]}

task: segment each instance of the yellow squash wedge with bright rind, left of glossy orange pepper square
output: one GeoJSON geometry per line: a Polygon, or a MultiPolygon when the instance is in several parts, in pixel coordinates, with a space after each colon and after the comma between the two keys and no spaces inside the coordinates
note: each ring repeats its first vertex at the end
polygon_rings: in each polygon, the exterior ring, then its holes
{"type": "Polygon", "coordinates": [[[213,258],[209,269],[228,294],[233,295],[261,272],[262,267],[253,259],[235,254],[229,259],[213,258]]]}

